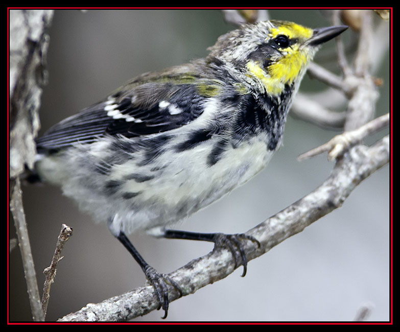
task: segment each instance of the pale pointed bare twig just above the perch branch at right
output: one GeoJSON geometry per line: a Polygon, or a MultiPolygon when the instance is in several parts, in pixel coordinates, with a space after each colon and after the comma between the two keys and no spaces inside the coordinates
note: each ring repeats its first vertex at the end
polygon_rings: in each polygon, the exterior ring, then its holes
{"type": "Polygon", "coordinates": [[[328,160],[334,160],[342,155],[351,146],[359,144],[360,141],[366,136],[377,132],[389,126],[389,113],[382,115],[375,120],[367,123],[366,125],[352,131],[345,131],[340,135],[336,135],[327,143],[305,152],[297,157],[298,160],[304,160],[314,157],[318,154],[328,152],[328,160]]]}

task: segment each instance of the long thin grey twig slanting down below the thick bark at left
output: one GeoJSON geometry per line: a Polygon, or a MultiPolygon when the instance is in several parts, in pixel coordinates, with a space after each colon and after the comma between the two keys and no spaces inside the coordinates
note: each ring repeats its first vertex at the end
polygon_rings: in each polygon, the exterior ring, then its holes
{"type": "Polygon", "coordinates": [[[34,321],[43,321],[44,317],[39,300],[39,289],[37,287],[36,272],[33,264],[28,228],[25,220],[25,213],[22,208],[19,178],[15,179],[15,182],[11,184],[11,188],[10,209],[14,217],[15,228],[17,231],[19,250],[21,251],[23,271],[25,272],[25,279],[27,281],[32,317],[34,321]]]}

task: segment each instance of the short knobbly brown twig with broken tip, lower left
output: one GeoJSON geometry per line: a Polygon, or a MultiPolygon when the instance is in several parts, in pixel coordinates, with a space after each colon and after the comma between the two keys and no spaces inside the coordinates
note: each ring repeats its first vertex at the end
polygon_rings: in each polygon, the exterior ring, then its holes
{"type": "Polygon", "coordinates": [[[44,317],[46,317],[47,306],[49,304],[50,288],[52,286],[52,283],[54,282],[54,278],[56,277],[57,264],[63,258],[61,257],[61,250],[64,247],[65,242],[68,241],[71,235],[72,235],[72,227],[62,224],[60,234],[58,235],[56,250],[54,251],[52,263],[48,268],[45,268],[43,271],[43,274],[46,276],[44,280],[43,294],[41,300],[44,317]]]}

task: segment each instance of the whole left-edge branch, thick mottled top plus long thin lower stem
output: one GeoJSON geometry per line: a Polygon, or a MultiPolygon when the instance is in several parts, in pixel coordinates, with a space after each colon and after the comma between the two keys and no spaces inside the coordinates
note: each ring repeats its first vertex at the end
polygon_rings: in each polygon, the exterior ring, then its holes
{"type": "Polygon", "coordinates": [[[18,176],[25,170],[25,165],[32,167],[35,160],[34,137],[40,127],[38,109],[41,87],[46,82],[44,66],[49,44],[46,30],[52,17],[52,10],[9,10],[10,209],[14,217],[32,317],[35,321],[42,321],[44,317],[18,176]]]}

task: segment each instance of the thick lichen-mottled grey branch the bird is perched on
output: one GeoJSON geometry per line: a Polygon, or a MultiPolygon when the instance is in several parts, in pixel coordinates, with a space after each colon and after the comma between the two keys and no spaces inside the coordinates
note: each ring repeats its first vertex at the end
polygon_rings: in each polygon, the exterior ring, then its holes
{"type": "MultiPolygon", "coordinates": [[[[261,243],[258,249],[250,242],[245,244],[247,259],[261,256],[340,207],[362,180],[389,162],[389,155],[388,136],[372,147],[359,145],[351,148],[337,160],[331,176],[312,193],[246,233],[261,243]]],[[[229,251],[217,249],[192,260],[169,276],[179,284],[185,296],[225,278],[233,270],[234,261],[229,251]]],[[[176,290],[170,287],[169,291],[170,301],[178,298],[176,290]]],[[[153,288],[145,286],[101,303],[87,304],[80,311],[68,314],[59,321],[126,321],[145,315],[157,307],[158,299],[153,288]]]]}

